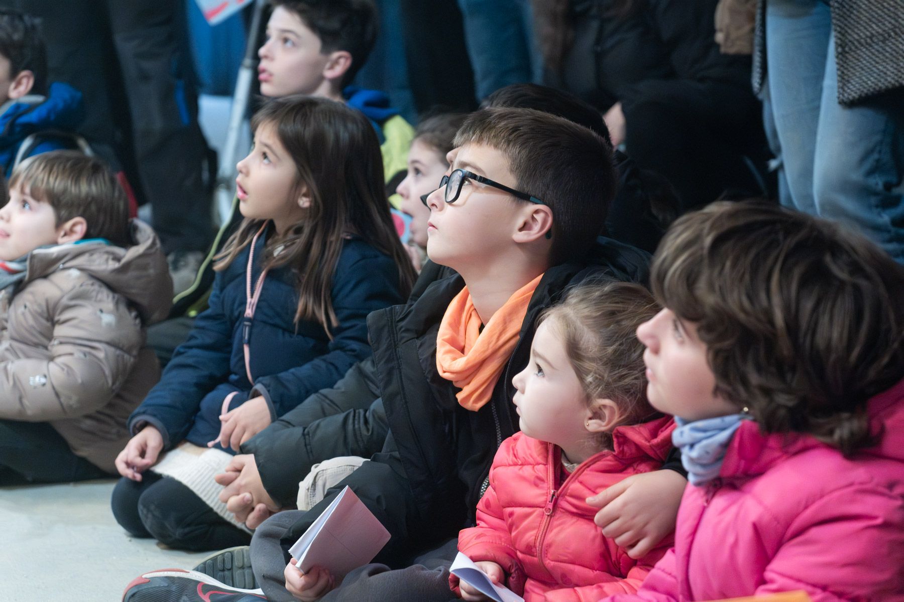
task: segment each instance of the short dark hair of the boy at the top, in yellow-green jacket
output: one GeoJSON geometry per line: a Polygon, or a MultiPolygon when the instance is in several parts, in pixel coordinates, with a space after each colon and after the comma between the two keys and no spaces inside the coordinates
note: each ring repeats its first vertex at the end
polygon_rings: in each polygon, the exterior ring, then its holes
{"type": "Polygon", "coordinates": [[[347,51],[352,66],[341,84],[352,83],[373,50],[380,31],[380,14],[373,0],[270,0],[296,14],[320,39],[321,52],[347,51]]]}

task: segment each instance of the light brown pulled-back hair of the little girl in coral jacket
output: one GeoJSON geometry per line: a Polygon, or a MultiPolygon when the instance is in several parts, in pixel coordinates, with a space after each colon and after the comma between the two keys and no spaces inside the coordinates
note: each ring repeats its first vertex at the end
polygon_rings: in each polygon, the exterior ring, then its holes
{"type": "Polygon", "coordinates": [[[565,301],[541,314],[559,335],[588,402],[617,403],[620,424],[636,424],[658,414],[646,399],[644,345],[636,329],[659,306],[633,282],[583,282],[565,301]]]}

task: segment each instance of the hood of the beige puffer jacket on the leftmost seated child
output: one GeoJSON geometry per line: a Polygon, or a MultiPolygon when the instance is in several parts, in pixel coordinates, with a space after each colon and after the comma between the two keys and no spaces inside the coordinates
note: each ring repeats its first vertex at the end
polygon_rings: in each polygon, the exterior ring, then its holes
{"type": "Polygon", "coordinates": [[[35,249],[24,282],[58,270],[80,270],[127,298],[145,324],[164,320],[173,304],[173,281],[154,230],[133,219],[128,248],[84,241],[35,249]]]}

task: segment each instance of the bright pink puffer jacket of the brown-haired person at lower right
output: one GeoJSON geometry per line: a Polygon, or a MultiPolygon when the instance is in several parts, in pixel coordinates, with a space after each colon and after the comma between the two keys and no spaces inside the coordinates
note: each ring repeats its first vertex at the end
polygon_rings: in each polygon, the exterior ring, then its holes
{"type": "Polygon", "coordinates": [[[845,459],[804,435],[735,433],[720,479],[688,486],[675,547],[634,596],[713,600],[805,590],[904,600],[904,381],[868,409],[879,443],[845,459]],[[881,431],[879,431],[881,429],[881,431]]]}

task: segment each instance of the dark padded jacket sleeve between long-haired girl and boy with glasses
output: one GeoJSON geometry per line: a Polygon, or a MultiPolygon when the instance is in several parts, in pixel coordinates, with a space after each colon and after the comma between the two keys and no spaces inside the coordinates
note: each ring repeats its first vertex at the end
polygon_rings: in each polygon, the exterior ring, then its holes
{"type": "Polygon", "coordinates": [[[388,427],[372,358],[358,362],[330,389],[308,397],[241,446],[254,454],[267,493],[295,504],[298,482],[317,462],[338,456],[370,458],[388,427]]]}

